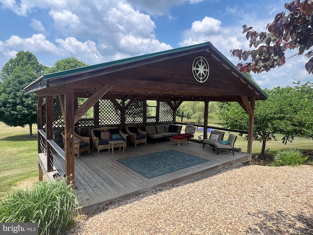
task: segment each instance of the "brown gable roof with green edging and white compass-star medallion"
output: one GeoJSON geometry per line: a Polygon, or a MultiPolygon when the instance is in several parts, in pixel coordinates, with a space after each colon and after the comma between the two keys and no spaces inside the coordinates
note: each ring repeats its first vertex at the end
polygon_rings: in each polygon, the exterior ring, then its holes
{"type": "Polygon", "coordinates": [[[237,101],[238,96],[267,99],[210,42],[46,74],[24,90],[39,95],[57,94],[55,91],[67,83],[74,83],[77,97],[112,85],[106,95],[114,94],[116,98],[136,94],[139,98],[185,96],[184,100],[207,97],[212,101],[237,101]]]}

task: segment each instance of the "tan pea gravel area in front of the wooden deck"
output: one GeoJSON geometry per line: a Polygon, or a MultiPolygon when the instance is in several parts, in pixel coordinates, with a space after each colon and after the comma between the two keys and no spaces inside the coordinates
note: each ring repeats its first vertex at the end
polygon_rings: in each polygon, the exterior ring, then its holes
{"type": "Polygon", "coordinates": [[[312,235],[313,166],[222,170],[83,215],[74,234],[312,235]]]}

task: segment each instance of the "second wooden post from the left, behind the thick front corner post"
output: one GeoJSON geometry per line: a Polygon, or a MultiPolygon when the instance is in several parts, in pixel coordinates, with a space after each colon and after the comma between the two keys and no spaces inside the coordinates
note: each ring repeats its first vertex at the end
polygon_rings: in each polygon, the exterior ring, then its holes
{"type": "MultiPolygon", "coordinates": [[[[47,95],[45,97],[45,133],[47,135],[47,140],[53,139],[53,104],[52,96],[47,95]]],[[[46,154],[47,154],[47,171],[53,171],[53,156],[51,155],[52,147],[49,142],[46,141],[46,154]]]]}

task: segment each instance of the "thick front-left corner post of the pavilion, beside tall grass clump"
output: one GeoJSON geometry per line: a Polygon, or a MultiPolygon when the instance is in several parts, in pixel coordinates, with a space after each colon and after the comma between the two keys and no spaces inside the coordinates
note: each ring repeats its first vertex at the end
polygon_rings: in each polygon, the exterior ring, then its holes
{"type": "Polygon", "coordinates": [[[64,134],[65,134],[65,177],[67,185],[75,185],[75,156],[74,156],[74,86],[73,83],[65,85],[64,95],[64,134]]]}

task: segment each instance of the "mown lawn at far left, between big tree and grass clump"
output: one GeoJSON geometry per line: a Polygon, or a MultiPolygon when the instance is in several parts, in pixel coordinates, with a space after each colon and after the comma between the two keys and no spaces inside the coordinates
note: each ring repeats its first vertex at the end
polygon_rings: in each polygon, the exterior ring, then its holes
{"type": "Polygon", "coordinates": [[[38,176],[37,126],[9,127],[0,122],[0,197],[17,182],[38,176]],[[34,135],[35,133],[35,135],[34,135]]]}

